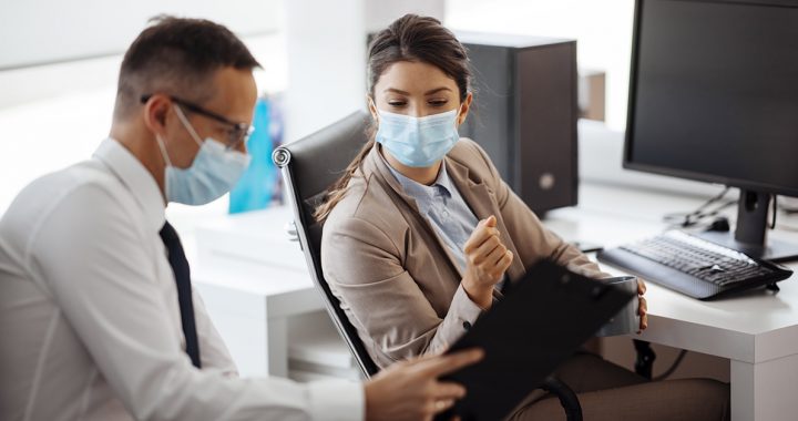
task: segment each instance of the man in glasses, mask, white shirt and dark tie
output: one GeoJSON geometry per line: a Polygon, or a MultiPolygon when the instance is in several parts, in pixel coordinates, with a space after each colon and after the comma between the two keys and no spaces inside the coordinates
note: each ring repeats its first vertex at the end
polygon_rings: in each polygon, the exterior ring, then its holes
{"type": "Polygon", "coordinates": [[[125,53],[109,138],[2,216],[0,419],[416,420],[463,396],[438,378],[480,351],[365,383],[237,377],[164,208],[246,168],[257,66],[222,25],[156,19],[125,53]]]}

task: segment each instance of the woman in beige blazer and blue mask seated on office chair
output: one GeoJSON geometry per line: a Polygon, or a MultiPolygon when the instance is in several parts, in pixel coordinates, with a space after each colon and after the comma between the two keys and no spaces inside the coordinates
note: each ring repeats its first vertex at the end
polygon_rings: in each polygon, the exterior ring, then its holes
{"type": "MultiPolygon", "coordinates": [[[[379,32],[368,71],[376,130],[316,216],[325,276],[378,366],[446,350],[501,299],[502,283],[539,259],[606,276],[543,227],[484,151],[458,135],[471,74],[466,49],[438,20],[408,14],[379,32]]],[[[644,291],[641,283],[641,329],[644,291]]],[[[728,386],[712,380],[647,382],[589,353],[557,376],[586,419],[728,413],[728,386]]],[[[562,415],[556,399],[534,396],[513,418],[562,415]]]]}

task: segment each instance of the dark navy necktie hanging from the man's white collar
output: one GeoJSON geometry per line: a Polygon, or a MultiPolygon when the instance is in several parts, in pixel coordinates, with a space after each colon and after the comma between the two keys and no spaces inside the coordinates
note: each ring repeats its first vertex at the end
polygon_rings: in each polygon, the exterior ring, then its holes
{"type": "Polygon", "coordinates": [[[192,301],[188,260],[185,258],[185,251],[183,251],[183,245],[180,242],[177,232],[175,232],[168,222],[161,228],[160,234],[168,251],[170,266],[172,266],[175,283],[177,284],[177,301],[181,307],[181,321],[183,324],[183,336],[185,336],[186,340],[186,353],[191,357],[194,367],[201,368],[200,343],[197,341],[196,325],[194,322],[194,304],[192,301]]]}

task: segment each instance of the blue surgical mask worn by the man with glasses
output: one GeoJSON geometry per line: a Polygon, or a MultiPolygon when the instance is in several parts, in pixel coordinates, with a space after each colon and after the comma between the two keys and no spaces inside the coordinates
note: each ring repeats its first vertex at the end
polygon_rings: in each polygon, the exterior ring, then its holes
{"type": "Polygon", "coordinates": [[[228,193],[249,165],[250,156],[227,147],[213,137],[203,142],[188,123],[183,111],[175,106],[175,113],[192,138],[200,145],[200,152],[187,168],[177,168],[166,154],[163,138],[156,135],[161,153],[166,161],[166,201],[185,205],[204,205],[228,193]]]}

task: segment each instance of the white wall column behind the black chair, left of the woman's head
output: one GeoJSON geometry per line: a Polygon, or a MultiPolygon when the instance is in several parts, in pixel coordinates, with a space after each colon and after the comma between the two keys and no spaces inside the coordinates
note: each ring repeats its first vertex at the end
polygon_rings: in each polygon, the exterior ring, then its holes
{"type": "Polygon", "coordinates": [[[444,17],[444,0],[286,0],[286,141],[366,109],[366,37],[405,13],[444,17]]]}

